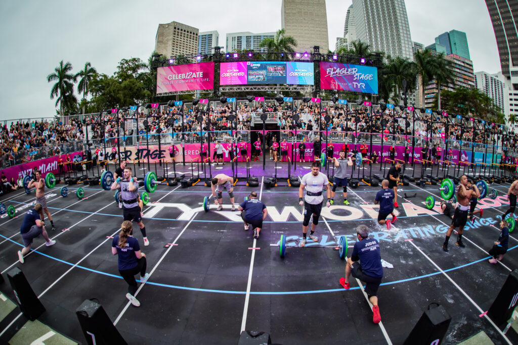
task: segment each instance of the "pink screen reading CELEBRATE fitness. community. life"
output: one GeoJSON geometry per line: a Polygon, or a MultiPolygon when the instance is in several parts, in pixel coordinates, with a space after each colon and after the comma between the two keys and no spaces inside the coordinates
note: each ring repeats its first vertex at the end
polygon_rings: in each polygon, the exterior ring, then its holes
{"type": "Polygon", "coordinates": [[[175,65],[156,69],[156,95],[214,88],[214,63],[175,65]]]}

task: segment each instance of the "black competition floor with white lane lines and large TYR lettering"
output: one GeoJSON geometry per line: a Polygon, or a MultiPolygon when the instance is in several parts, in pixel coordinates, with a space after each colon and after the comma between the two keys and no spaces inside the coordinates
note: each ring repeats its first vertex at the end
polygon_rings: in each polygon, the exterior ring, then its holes
{"type": "MultiPolygon", "coordinates": [[[[275,170],[273,163],[267,161],[265,171],[262,162],[252,164],[260,186],[237,185],[234,193],[238,204],[255,190],[268,206],[269,217],[257,240],[252,230],[243,230],[239,212],[231,212],[229,205],[215,212],[212,204],[211,211],[204,212],[202,201],[210,188],[202,183],[189,188],[158,186],[150,194],[151,202],[143,210],[150,246],[143,246],[134,224],[151,274],[145,285],[139,284],[138,308],[126,299],[127,284],[119,276],[117,256],[111,254],[111,236],[119,233],[122,222],[122,210],[112,191],[81,185],[85,197],[79,200],[75,197],[78,185],[69,186],[67,198],[59,194],[63,184],[46,189],[57,227],[49,235],[57,243],[46,247],[44,239],[35,239],[35,251],[25,257],[24,264],[17,257],[22,248],[20,225],[35,202],[34,191],[6,196],[0,202],[15,205],[17,217],[3,215],[0,219],[0,270],[5,279],[0,284],[0,304],[4,305],[0,308],[4,310],[0,343],[31,343],[47,335],[44,342],[51,344],[59,337],[43,325],[39,325],[43,331],[31,328],[33,323],[20,316],[10,302],[16,297],[6,273],[13,267],[23,271],[46,308],[38,320],[79,343],[86,342],[76,309],[90,298],[99,301],[131,344],[235,344],[243,329],[265,331],[272,342],[281,344],[400,344],[433,302],[452,317],[444,343],[456,344],[481,331],[496,344],[518,343],[513,328],[503,336],[487,317],[480,317],[509,272],[518,268],[515,234],[510,236],[509,251],[501,263],[487,261],[487,251],[498,239],[498,222],[508,208],[505,194],[509,184],[490,185],[499,196],[479,202],[484,217],[473,226],[468,222],[466,248],[455,246],[456,236],[452,235],[450,251],[442,251],[451,220],[436,211],[438,186],[420,188],[414,183],[400,187],[399,217],[390,231],[376,220],[378,207],[373,199],[380,187],[361,184],[357,189],[348,188],[349,206],[343,205],[337,190],[335,205],[322,210],[323,219],[315,233],[320,242],[309,240],[300,248],[303,215],[298,188],[263,188],[263,178],[275,170]],[[417,196],[404,199],[404,193],[417,196]],[[424,206],[429,195],[436,199],[432,210],[424,206]],[[384,268],[378,292],[380,324],[372,323],[372,311],[355,279],[351,277],[347,291],[339,284],[345,261],[335,249],[335,238],[348,237],[350,256],[359,224],[369,227],[371,236],[379,239],[382,259],[394,266],[384,268]],[[285,258],[279,256],[281,234],[289,240],[285,258]]],[[[303,165],[305,168],[297,163],[295,176],[310,171],[310,163],[303,165]]],[[[181,163],[176,166],[177,172],[187,168],[181,163]]],[[[213,166],[213,175],[229,173],[228,164],[224,169],[215,168],[222,167],[213,166]]],[[[278,170],[286,175],[286,168],[282,169],[278,170]]],[[[378,166],[374,171],[381,174],[378,166]]],[[[226,193],[223,200],[229,202],[226,193]]]]}

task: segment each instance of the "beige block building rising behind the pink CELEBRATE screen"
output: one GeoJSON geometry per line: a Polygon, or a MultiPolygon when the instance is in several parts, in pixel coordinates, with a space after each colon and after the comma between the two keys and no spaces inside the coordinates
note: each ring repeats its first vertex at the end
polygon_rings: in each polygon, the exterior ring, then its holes
{"type": "Polygon", "coordinates": [[[159,24],[155,52],[169,56],[191,55],[198,51],[198,29],[178,22],[159,24]]]}

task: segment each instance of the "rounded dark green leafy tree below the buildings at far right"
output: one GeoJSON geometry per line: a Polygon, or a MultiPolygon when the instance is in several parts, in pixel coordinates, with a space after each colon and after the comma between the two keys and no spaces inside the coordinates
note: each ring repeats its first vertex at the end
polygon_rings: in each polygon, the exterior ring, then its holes
{"type": "MultiPolygon", "coordinates": [[[[439,94],[435,96],[434,107],[437,107],[438,96],[439,94]]],[[[499,124],[505,121],[505,115],[493,99],[476,87],[458,87],[455,91],[443,90],[440,97],[442,109],[449,113],[477,117],[499,124]]]]}

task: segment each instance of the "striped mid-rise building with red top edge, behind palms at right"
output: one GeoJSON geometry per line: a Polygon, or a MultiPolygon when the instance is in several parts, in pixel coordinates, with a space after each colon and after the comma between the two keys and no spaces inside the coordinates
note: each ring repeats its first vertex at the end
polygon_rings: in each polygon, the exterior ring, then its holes
{"type": "MultiPolygon", "coordinates": [[[[441,90],[447,89],[449,91],[453,91],[456,87],[475,87],[473,62],[470,59],[455,54],[444,55],[444,58],[452,62],[451,72],[453,83],[449,85],[441,85],[441,90]]],[[[438,88],[435,80],[425,87],[426,108],[431,108],[437,92],[438,88]]]]}

